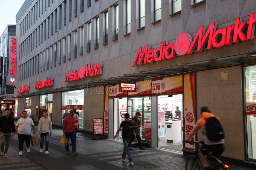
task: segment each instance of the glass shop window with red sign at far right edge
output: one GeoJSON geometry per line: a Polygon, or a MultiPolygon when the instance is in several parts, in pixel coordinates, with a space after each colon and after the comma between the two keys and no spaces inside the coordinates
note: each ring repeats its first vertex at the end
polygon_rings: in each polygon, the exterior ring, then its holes
{"type": "Polygon", "coordinates": [[[245,67],[244,76],[247,153],[256,159],[256,66],[245,67]]]}

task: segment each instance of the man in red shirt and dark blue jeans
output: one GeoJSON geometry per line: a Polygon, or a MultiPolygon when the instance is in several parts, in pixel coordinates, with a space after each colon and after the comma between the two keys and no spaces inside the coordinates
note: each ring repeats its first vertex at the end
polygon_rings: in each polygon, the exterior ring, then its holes
{"type": "MultiPolygon", "coordinates": [[[[72,142],[72,155],[77,155],[76,152],[76,129],[75,127],[78,126],[77,119],[74,117],[74,111],[70,110],[69,116],[66,117],[63,121],[63,136],[66,136],[68,139],[71,138],[72,142]]],[[[66,152],[65,154],[68,155],[68,144],[65,145],[66,152]]]]}

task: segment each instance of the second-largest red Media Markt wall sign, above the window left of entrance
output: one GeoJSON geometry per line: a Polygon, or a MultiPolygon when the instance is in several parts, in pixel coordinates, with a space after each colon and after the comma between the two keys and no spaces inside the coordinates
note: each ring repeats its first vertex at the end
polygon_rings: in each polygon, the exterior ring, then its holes
{"type": "Polygon", "coordinates": [[[96,63],[94,66],[92,64],[86,64],[86,66],[81,66],[79,70],[75,70],[73,73],[71,70],[67,71],[65,81],[76,81],[82,78],[92,77],[92,76],[98,76],[102,74],[102,65],[99,63],[96,63]]]}

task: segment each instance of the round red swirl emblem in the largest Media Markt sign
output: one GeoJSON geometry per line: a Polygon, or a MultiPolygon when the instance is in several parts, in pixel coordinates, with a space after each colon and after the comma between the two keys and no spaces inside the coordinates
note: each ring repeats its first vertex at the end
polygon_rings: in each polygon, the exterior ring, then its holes
{"type": "Polygon", "coordinates": [[[187,33],[180,33],[174,42],[174,49],[176,54],[184,55],[187,53],[190,46],[191,37],[187,33]]]}

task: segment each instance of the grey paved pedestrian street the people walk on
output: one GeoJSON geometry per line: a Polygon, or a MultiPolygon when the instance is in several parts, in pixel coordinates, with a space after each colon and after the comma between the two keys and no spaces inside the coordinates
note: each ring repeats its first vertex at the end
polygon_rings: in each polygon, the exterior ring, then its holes
{"type": "MultiPolygon", "coordinates": [[[[37,129],[37,127],[36,127],[37,129]]],[[[36,132],[38,135],[38,131],[36,132]]],[[[132,147],[134,166],[126,166],[121,162],[123,143],[122,140],[103,139],[92,140],[90,135],[77,133],[76,151],[72,156],[71,146],[69,155],[65,155],[64,146],[59,144],[61,128],[53,128],[50,138],[49,155],[39,153],[40,146],[30,147],[30,153],[26,152],[24,144],[23,155],[18,155],[17,133],[10,141],[8,158],[0,158],[1,169],[25,170],[25,169],[76,169],[76,170],[99,170],[99,169],[152,169],[152,170],[182,170],[185,169],[186,156],[180,152],[173,152],[165,148],[147,148],[145,152],[139,152],[139,147],[132,147]]],[[[232,169],[246,170],[240,166],[231,166],[232,169]]]]}

